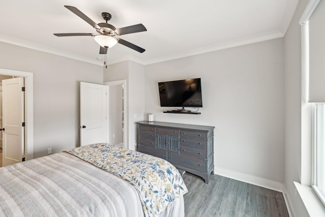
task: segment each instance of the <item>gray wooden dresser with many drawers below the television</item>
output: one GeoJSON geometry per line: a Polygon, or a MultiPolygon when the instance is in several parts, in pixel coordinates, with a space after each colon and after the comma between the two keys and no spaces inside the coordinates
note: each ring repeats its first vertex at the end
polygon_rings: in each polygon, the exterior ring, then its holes
{"type": "Polygon", "coordinates": [[[214,170],[214,127],[141,121],[137,128],[138,151],[165,159],[209,182],[214,170]]]}

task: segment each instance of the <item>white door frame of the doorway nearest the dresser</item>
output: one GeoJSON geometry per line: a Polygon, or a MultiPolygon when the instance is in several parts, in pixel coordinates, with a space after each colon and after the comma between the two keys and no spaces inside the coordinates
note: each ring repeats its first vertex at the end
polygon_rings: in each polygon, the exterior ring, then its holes
{"type": "MultiPolygon", "coordinates": [[[[123,80],[116,80],[116,81],[107,81],[103,83],[106,86],[113,86],[113,85],[123,85],[123,147],[128,149],[128,142],[127,142],[127,112],[126,112],[126,79],[123,80]]],[[[109,95],[107,95],[107,99],[109,95]]],[[[107,100],[108,103],[108,100],[107,100]]],[[[107,114],[109,114],[109,105],[107,105],[107,114]]],[[[109,138],[109,121],[107,121],[107,138],[109,138]]]]}

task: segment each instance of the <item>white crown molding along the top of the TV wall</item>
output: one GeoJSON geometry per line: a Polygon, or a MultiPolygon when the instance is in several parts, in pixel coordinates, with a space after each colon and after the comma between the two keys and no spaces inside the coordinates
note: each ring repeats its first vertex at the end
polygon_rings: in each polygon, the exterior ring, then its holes
{"type": "Polygon", "coordinates": [[[255,35],[252,37],[242,38],[242,39],[238,39],[238,40],[234,40],[234,41],[215,44],[212,46],[206,46],[206,47],[202,47],[202,48],[198,48],[198,49],[188,50],[185,52],[161,56],[161,57],[157,57],[157,58],[151,58],[151,59],[145,60],[143,62],[143,65],[149,65],[149,64],[159,63],[159,62],[168,61],[168,60],[172,60],[172,59],[178,59],[178,58],[182,58],[182,57],[186,57],[186,56],[198,55],[198,54],[202,54],[202,53],[223,50],[223,49],[232,48],[232,47],[238,47],[238,46],[252,44],[252,43],[256,43],[256,42],[282,38],[283,36],[284,35],[279,30],[275,30],[273,32],[255,35]]]}

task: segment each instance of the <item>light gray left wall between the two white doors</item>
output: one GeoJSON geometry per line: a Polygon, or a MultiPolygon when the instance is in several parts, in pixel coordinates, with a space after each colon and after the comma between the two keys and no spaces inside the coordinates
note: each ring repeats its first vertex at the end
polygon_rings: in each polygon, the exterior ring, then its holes
{"type": "Polygon", "coordinates": [[[34,74],[34,158],[79,146],[80,81],[103,82],[103,67],[0,42],[0,68],[34,74]]]}

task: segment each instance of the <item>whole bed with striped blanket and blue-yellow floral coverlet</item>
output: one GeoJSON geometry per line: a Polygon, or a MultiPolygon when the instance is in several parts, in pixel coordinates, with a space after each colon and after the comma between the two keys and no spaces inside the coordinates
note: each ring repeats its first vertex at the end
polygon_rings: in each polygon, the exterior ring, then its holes
{"type": "Polygon", "coordinates": [[[0,168],[0,216],[184,216],[167,161],[106,143],[0,168]]]}

